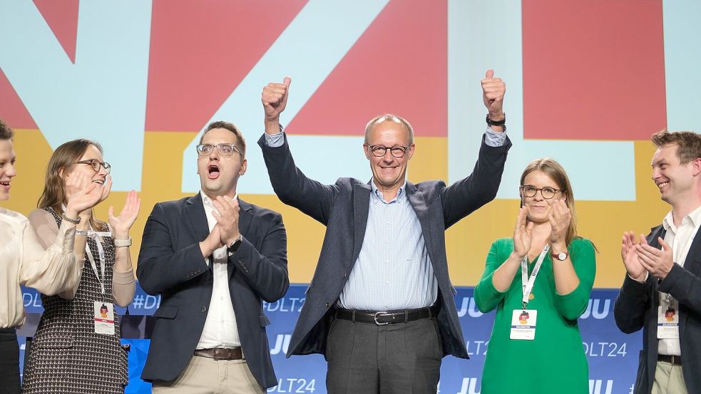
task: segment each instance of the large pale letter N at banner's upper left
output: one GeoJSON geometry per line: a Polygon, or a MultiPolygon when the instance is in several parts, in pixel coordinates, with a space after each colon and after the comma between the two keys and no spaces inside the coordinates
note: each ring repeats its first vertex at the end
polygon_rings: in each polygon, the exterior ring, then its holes
{"type": "Polygon", "coordinates": [[[51,147],[96,140],[112,189],[139,190],[151,1],[81,1],[75,64],[34,2],[0,8],[0,67],[51,147]]]}

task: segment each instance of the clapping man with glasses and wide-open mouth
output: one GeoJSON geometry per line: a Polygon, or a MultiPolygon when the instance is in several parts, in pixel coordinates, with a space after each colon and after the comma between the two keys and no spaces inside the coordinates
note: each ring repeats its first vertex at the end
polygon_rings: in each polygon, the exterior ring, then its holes
{"type": "Polygon", "coordinates": [[[153,393],[263,393],[277,384],[262,300],[280,299],[287,278],[282,217],[238,198],[246,145],[227,122],[200,138],[202,190],[155,204],[136,274],[160,307],[141,378],[153,393]]]}

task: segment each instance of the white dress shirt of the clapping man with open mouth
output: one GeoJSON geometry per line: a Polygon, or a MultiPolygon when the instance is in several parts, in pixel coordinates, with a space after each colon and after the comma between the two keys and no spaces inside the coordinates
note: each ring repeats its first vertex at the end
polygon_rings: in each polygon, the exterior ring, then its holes
{"type": "MultiPolygon", "coordinates": [[[[212,199],[200,190],[202,203],[207,214],[207,224],[210,232],[217,224],[217,220],[212,214],[215,211],[212,199]]],[[[234,198],[238,198],[235,195],[234,198]]],[[[231,304],[231,294],[229,292],[229,273],[227,271],[228,254],[226,245],[216,249],[212,254],[212,259],[207,259],[214,275],[212,299],[207,312],[207,320],[202,329],[202,336],[197,345],[198,349],[211,348],[235,348],[241,346],[241,340],[236,326],[236,316],[234,306],[231,304]],[[210,264],[211,261],[211,264],[210,264]]]]}

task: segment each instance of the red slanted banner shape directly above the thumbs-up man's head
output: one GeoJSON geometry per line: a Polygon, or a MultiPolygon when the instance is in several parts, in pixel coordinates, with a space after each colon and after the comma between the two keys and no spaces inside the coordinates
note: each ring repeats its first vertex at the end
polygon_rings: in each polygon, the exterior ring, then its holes
{"type": "Polygon", "coordinates": [[[375,115],[395,113],[416,135],[446,137],[446,26],[446,1],[390,1],[286,130],[363,135],[375,115]]]}

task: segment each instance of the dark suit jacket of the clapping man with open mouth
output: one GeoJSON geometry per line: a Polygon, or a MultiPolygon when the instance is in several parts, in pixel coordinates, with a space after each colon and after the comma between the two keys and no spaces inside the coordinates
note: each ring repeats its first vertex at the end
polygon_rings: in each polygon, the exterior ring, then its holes
{"type": "MultiPolygon", "coordinates": [[[[277,384],[261,300],[280,299],[287,278],[282,217],[239,199],[243,242],[229,256],[229,292],[241,347],[262,388],[277,384]]],[[[143,229],[136,276],[148,294],[160,294],[144,380],[174,380],[193,357],[212,298],[213,274],[199,242],[209,234],[200,195],[155,204],[143,229]]]]}

